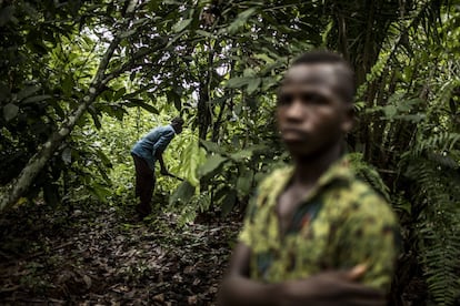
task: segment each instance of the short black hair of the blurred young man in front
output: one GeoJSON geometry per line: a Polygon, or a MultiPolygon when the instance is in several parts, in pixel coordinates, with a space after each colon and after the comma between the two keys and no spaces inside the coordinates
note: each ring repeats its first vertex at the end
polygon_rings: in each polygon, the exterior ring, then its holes
{"type": "Polygon", "coordinates": [[[352,103],[356,93],[356,81],[354,72],[350,63],[344,60],[339,53],[327,51],[327,50],[316,50],[311,52],[303,53],[297,58],[291,67],[301,65],[301,64],[337,64],[341,65],[343,69],[338,70],[338,73],[343,79],[343,82],[340,82],[340,94],[346,102],[352,103]]]}

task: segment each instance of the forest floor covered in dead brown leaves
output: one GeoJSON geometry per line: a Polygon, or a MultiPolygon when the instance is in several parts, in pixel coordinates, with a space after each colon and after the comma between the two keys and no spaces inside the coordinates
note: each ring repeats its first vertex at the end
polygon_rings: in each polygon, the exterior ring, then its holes
{"type": "Polygon", "coordinates": [[[220,222],[20,207],[0,220],[0,304],[213,305],[240,226],[220,222]]]}

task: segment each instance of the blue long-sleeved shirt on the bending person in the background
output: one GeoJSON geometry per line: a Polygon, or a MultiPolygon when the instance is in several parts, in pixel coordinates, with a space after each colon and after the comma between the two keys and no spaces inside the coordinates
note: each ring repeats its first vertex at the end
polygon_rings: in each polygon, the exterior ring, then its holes
{"type": "Polygon", "coordinates": [[[154,171],[157,160],[154,155],[162,153],[176,132],[171,124],[156,128],[134,144],[131,153],[144,159],[149,167],[154,171]]]}

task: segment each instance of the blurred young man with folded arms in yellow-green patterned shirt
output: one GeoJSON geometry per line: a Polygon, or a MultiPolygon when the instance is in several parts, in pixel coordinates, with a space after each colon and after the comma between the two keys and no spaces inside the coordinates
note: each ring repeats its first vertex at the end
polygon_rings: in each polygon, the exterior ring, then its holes
{"type": "Polygon", "coordinates": [[[259,186],[219,294],[221,305],[384,305],[396,218],[342,159],[353,72],[312,52],[287,71],[277,120],[293,167],[259,186]]]}

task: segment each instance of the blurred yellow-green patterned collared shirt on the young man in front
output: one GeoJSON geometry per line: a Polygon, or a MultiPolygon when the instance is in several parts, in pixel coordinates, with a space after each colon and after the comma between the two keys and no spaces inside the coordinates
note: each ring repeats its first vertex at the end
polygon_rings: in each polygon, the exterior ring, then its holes
{"type": "Polygon", "coordinates": [[[387,202],[341,160],[323,173],[281,235],[276,206],[292,171],[267,177],[248,208],[240,242],[251,248],[250,277],[279,283],[367,264],[361,283],[388,289],[398,226],[387,202]]]}

